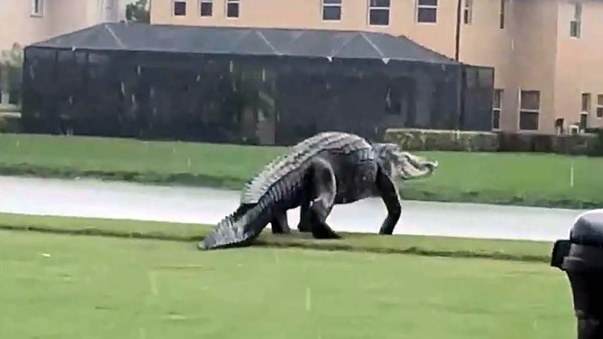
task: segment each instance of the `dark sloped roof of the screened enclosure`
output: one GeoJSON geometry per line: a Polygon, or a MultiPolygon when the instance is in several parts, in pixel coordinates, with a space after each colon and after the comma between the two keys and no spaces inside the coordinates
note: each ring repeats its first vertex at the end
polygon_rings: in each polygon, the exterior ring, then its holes
{"type": "Polygon", "coordinates": [[[198,27],[113,22],[34,43],[34,47],[205,54],[294,55],[457,64],[405,36],[336,30],[198,27]]]}

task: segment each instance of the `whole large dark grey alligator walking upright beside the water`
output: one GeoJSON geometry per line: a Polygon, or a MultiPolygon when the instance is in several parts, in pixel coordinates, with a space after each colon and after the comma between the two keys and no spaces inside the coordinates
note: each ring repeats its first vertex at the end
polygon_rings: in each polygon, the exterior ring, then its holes
{"type": "Polygon", "coordinates": [[[341,132],[305,139],[269,163],[245,184],[239,208],[199,242],[201,250],[248,246],[268,223],[290,233],[287,210],[300,207],[301,232],[339,238],[326,218],[335,204],[379,196],[387,207],[379,233],[391,235],[402,213],[396,181],[431,174],[438,163],[402,151],[396,144],[370,144],[341,132]]]}

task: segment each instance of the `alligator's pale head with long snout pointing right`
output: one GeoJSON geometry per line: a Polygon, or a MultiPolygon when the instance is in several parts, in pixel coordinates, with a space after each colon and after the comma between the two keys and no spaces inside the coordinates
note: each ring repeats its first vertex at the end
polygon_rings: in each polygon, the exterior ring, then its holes
{"type": "Polygon", "coordinates": [[[397,144],[375,144],[373,147],[391,178],[408,180],[424,177],[432,174],[438,167],[437,161],[403,151],[397,144]]]}

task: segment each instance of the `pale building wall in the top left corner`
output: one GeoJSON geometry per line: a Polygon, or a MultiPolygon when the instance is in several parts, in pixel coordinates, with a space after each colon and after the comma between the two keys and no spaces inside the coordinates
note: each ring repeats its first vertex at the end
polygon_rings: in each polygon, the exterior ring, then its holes
{"type": "Polygon", "coordinates": [[[0,0],[0,50],[125,18],[133,0],[40,0],[42,15],[32,15],[33,0],[0,0]],[[112,10],[104,10],[109,7],[112,10]]]}

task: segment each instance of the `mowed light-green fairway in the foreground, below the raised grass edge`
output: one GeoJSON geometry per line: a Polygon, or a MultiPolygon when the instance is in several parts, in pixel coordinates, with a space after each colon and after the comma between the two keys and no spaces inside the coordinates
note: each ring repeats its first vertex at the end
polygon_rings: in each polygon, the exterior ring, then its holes
{"type": "Polygon", "coordinates": [[[572,338],[547,264],[0,232],[0,338],[572,338]]]}

